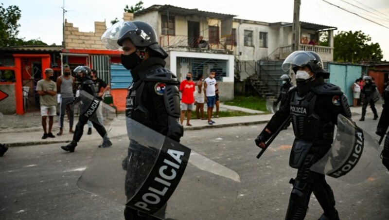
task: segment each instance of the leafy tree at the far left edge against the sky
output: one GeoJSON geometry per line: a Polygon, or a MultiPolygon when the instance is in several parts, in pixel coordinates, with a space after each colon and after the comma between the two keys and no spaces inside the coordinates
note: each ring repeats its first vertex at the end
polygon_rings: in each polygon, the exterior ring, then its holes
{"type": "Polygon", "coordinates": [[[38,39],[25,41],[24,38],[19,38],[21,11],[18,6],[10,5],[4,8],[4,4],[0,4],[0,47],[9,46],[25,46],[25,45],[47,45],[45,42],[38,39]]]}

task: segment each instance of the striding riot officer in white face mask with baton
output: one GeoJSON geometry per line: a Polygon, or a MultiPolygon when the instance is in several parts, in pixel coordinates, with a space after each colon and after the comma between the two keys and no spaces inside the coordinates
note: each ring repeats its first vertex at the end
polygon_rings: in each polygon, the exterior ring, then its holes
{"type": "Polygon", "coordinates": [[[265,142],[290,116],[296,138],[289,165],[298,171],[297,177],[290,181],[293,189],[285,219],[304,219],[313,192],[324,210],[319,220],[338,220],[331,187],[323,174],[311,171],[310,167],[331,147],[338,114],[351,118],[347,98],[339,87],[324,82],[330,73],[323,70],[321,58],[315,52],[290,54],[283,62],[283,70],[290,69],[296,73],[297,86],[287,93],[287,101],[255,139],[255,144],[265,147],[265,142]]]}

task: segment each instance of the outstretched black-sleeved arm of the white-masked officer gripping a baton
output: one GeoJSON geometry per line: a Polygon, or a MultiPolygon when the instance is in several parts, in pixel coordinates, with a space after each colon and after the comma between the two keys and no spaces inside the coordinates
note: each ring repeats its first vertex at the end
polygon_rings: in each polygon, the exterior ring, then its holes
{"type": "Polygon", "coordinates": [[[291,92],[288,92],[286,95],[287,95],[286,101],[283,104],[283,106],[281,106],[280,110],[278,110],[273,115],[269,123],[267,123],[265,128],[255,139],[255,144],[258,147],[265,147],[265,142],[269,140],[269,138],[273,135],[273,133],[276,132],[281,127],[283,122],[289,117],[291,92]]]}

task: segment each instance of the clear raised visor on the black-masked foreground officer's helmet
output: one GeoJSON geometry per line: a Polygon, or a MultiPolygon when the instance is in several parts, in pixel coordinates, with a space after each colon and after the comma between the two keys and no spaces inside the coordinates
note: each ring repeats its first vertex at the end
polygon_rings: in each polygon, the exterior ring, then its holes
{"type": "Polygon", "coordinates": [[[101,41],[110,50],[119,50],[121,46],[117,43],[118,39],[121,38],[128,31],[135,31],[138,27],[131,21],[119,21],[113,24],[110,28],[104,32],[101,37],[101,41]],[[125,32],[121,31],[125,28],[125,32]]]}

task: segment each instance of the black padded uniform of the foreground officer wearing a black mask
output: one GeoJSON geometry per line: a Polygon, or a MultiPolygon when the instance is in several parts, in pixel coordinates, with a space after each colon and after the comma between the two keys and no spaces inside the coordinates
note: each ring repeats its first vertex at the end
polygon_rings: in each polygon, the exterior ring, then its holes
{"type": "MultiPolygon", "coordinates": [[[[180,115],[178,80],[164,66],[165,61],[162,58],[150,57],[131,70],[134,80],[128,88],[126,116],[179,142],[183,135],[183,127],[178,122],[180,115]]],[[[144,170],[149,170],[154,165],[155,156],[141,148],[142,146],[137,143],[130,142],[128,156],[123,161],[123,168],[127,171],[125,193],[128,199],[134,195],[137,178],[144,170]],[[131,169],[135,167],[131,163],[142,164],[141,170],[131,169]]],[[[154,219],[128,206],[124,210],[124,216],[125,219],[131,220],[154,219]]]]}

